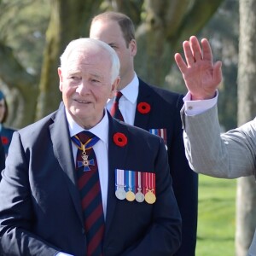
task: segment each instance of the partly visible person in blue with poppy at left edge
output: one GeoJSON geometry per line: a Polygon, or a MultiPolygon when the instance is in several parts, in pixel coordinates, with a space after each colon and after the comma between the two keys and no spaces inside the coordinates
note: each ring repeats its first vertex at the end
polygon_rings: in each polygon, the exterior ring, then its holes
{"type": "Polygon", "coordinates": [[[3,95],[3,91],[0,90],[0,136],[3,144],[5,156],[8,154],[9,144],[11,143],[13,133],[15,131],[15,129],[12,129],[3,125],[7,117],[8,117],[8,105],[6,102],[6,98],[3,95]]]}

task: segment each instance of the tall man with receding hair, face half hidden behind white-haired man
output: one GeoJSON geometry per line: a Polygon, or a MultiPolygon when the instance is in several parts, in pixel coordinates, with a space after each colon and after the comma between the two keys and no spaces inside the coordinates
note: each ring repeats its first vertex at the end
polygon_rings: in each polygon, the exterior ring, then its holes
{"type": "MultiPolygon", "coordinates": [[[[189,168],[183,148],[180,109],[183,96],[143,82],[134,71],[137,54],[134,26],[121,13],[106,12],[97,15],[90,25],[90,38],[109,44],[119,55],[120,83],[118,90],[119,119],[160,135],[166,142],[173,189],[182,215],[182,246],[176,256],[195,255],[198,176],[189,168]]],[[[117,108],[117,102],[108,101],[108,110],[117,108]]],[[[116,111],[115,111],[116,112],[116,111]]]]}

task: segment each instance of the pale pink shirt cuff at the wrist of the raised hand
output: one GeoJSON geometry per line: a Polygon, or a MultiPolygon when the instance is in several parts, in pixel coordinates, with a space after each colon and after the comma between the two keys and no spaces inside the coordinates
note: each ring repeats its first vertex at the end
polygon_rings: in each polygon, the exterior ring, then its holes
{"type": "Polygon", "coordinates": [[[218,90],[216,90],[216,95],[214,98],[209,100],[201,101],[191,101],[191,94],[188,92],[186,96],[183,97],[184,111],[187,115],[196,115],[206,112],[208,109],[215,106],[218,102],[218,90]]]}

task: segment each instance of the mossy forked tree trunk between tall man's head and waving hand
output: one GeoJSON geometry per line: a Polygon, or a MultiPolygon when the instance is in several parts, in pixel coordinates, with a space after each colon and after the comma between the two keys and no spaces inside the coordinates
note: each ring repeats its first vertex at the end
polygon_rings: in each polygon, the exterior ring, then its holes
{"type": "Polygon", "coordinates": [[[142,24],[137,28],[135,67],[139,76],[166,87],[183,40],[199,32],[223,0],[145,0],[142,24]]]}

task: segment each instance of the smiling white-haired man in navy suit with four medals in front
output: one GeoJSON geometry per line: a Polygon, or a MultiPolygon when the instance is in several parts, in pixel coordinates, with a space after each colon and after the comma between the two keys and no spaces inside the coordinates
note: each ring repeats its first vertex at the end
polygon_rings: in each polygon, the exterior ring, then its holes
{"type": "Polygon", "coordinates": [[[164,140],[105,109],[119,84],[118,55],[80,38],[58,73],[64,104],[15,131],[9,148],[0,254],[173,255],[181,217],[164,140]]]}

